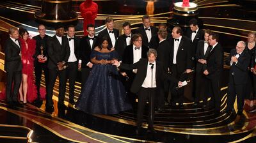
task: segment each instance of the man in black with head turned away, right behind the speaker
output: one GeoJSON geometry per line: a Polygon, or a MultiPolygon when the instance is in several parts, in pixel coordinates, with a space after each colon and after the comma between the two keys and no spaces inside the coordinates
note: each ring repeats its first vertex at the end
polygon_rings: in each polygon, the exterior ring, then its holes
{"type": "MultiPolygon", "coordinates": [[[[164,72],[169,71],[170,65],[170,42],[166,40],[167,31],[166,29],[159,29],[157,32],[157,36],[159,38],[159,45],[157,47],[157,61],[163,63],[164,72]]],[[[161,110],[164,108],[164,100],[168,103],[168,91],[170,84],[168,81],[164,82],[164,93],[159,94],[158,98],[158,109],[161,110]]]]}

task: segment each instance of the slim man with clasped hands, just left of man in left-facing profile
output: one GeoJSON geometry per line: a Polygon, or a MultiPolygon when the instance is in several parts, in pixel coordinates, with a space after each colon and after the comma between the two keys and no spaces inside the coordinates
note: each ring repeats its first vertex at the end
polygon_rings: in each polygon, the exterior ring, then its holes
{"type": "Polygon", "coordinates": [[[198,105],[198,103],[202,100],[205,106],[207,102],[207,79],[204,75],[204,70],[207,67],[206,59],[211,51],[211,46],[209,46],[208,39],[211,34],[211,30],[207,29],[204,33],[204,40],[198,41],[196,48],[196,87],[195,87],[195,103],[194,105],[198,105]]]}

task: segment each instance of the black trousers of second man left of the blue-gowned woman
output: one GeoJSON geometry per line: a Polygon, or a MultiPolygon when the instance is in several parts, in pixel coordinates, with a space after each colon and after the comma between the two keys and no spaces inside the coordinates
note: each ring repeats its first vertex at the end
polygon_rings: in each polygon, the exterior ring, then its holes
{"type": "MultiPolygon", "coordinates": [[[[66,75],[69,82],[69,101],[71,101],[71,100],[74,100],[75,82],[77,77],[78,63],[77,61],[68,62],[67,65],[68,67],[66,69],[66,72],[67,72],[66,75]]],[[[67,83],[67,79],[66,79],[66,83],[67,83]]]]}

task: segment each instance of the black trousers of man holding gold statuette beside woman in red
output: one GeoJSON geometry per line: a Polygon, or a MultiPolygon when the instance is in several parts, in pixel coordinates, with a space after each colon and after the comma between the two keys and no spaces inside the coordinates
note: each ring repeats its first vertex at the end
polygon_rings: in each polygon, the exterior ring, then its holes
{"type": "Polygon", "coordinates": [[[35,62],[35,80],[36,80],[37,98],[40,98],[40,82],[41,82],[43,70],[44,70],[45,87],[47,89],[48,76],[49,76],[49,70],[47,68],[47,63],[38,63],[36,61],[35,62]]]}

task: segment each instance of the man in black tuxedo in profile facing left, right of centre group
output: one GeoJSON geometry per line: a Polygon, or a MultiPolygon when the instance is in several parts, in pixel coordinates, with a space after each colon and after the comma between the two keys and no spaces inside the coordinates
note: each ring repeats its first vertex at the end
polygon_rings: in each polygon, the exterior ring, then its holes
{"type": "Polygon", "coordinates": [[[211,95],[209,108],[215,107],[216,113],[220,112],[220,76],[223,70],[223,49],[218,41],[218,34],[211,33],[209,35],[209,45],[212,48],[206,60],[207,67],[204,70],[209,85],[208,93],[211,95]]]}

